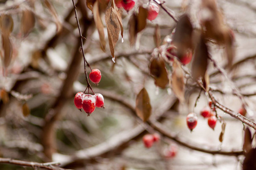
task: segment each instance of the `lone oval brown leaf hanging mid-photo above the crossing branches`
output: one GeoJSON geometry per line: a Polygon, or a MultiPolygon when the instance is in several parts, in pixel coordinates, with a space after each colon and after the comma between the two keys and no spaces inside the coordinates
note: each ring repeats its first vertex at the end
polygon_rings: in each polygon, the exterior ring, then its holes
{"type": "Polygon", "coordinates": [[[142,88],[142,90],[136,97],[136,114],[145,122],[148,120],[148,118],[150,118],[151,110],[152,108],[150,104],[150,98],[147,94],[147,90],[145,88],[142,88]]]}

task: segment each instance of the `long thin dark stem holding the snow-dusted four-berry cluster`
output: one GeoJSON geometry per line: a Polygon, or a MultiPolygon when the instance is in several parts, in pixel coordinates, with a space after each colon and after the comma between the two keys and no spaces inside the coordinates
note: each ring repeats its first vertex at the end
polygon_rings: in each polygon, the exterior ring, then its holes
{"type": "MultiPolygon", "coordinates": [[[[76,4],[74,2],[74,0],[72,0],[73,2],[73,6],[74,6],[74,10],[75,10],[75,18],[76,18],[76,23],[77,23],[77,27],[79,28],[79,35],[81,37],[81,50],[82,50],[82,58],[84,59],[84,74],[85,74],[85,79],[86,79],[86,83],[87,83],[87,87],[88,87],[88,94],[89,94],[89,89],[93,92],[92,90],[92,86],[90,86],[90,83],[89,83],[89,78],[88,78],[88,75],[87,75],[87,70],[86,70],[86,65],[90,68],[90,71],[92,71],[92,68],[90,67],[89,63],[87,62],[86,58],[85,58],[85,54],[84,54],[84,42],[82,41],[83,39],[86,39],[84,36],[82,36],[82,33],[81,33],[81,27],[80,27],[80,24],[79,24],[79,19],[78,19],[78,16],[77,16],[77,10],[76,10],[76,4]]],[[[86,88],[87,89],[87,88],[86,88]]],[[[85,90],[86,91],[86,90],[85,90]]],[[[93,92],[94,94],[94,92],[93,92]]]]}

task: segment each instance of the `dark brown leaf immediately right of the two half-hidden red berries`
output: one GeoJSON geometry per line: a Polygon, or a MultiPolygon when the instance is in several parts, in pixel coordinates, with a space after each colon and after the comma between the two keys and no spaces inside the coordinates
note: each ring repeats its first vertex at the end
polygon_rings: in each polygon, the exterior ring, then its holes
{"type": "Polygon", "coordinates": [[[196,50],[194,53],[193,57],[193,62],[192,62],[192,77],[194,79],[199,79],[205,77],[205,73],[207,71],[207,66],[208,66],[208,58],[209,58],[209,53],[208,53],[208,47],[205,44],[205,40],[203,35],[201,35],[199,43],[196,46],[196,50]]]}

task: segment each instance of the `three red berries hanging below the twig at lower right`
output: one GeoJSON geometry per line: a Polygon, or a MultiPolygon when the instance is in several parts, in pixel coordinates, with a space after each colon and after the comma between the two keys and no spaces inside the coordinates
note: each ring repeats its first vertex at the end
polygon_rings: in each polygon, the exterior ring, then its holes
{"type": "MultiPolygon", "coordinates": [[[[214,130],[216,123],[217,123],[217,117],[216,114],[212,112],[212,110],[214,110],[214,108],[212,108],[212,102],[209,102],[209,107],[205,107],[201,110],[200,114],[201,116],[203,116],[204,118],[208,119],[208,125],[210,128],[212,128],[214,130]]],[[[197,116],[195,113],[189,113],[187,116],[187,125],[188,125],[188,129],[190,129],[191,131],[193,129],[196,128],[197,125],[197,116]]]]}

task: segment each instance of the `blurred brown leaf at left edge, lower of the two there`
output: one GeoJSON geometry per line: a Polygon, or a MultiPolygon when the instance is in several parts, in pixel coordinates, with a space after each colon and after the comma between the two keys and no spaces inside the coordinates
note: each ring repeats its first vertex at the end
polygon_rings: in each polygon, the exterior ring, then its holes
{"type": "Polygon", "coordinates": [[[9,35],[2,34],[2,50],[1,57],[3,59],[3,66],[7,68],[11,63],[13,56],[13,44],[11,43],[9,35]]]}

